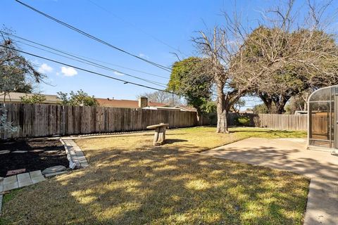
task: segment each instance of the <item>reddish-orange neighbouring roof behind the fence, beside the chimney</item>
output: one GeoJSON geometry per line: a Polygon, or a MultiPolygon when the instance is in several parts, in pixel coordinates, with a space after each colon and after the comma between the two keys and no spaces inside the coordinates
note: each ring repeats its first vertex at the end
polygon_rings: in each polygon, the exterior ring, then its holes
{"type": "MultiPolygon", "coordinates": [[[[110,98],[96,98],[96,101],[100,104],[100,106],[104,107],[115,107],[115,108],[139,108],[139,101],[135,100],[117,100],[110,98]]],[[[164,103],[153,103],[151,101],[148,102],[149,106],[161,106],[164,107],[164,103]]]]}

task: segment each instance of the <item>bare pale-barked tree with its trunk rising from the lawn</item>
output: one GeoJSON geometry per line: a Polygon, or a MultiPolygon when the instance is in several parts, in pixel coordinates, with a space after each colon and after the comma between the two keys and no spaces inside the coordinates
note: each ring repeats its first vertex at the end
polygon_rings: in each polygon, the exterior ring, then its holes
{"type": "Polygon", "coordinates": [[[228,133],[227,113],[234,103],[251,88],[251,79],[239,77],[242,72],[239,69],[244,65],[241,60],[240,49],[246,31],[242,27],[239,16],[236,13],[232,17],[225,15],[225,24],[222,27],[214,27],[212,32],[199,32],[199,37],[192,41],[201,56],[210,63],[206,74],[213,78],[215,93],[217,95],[217,129],[218,133],[228,133]],[[234,68],[237,68],[234,70],[234,68]],[[236,85],[241,84],[241,85],[236,85]]]}

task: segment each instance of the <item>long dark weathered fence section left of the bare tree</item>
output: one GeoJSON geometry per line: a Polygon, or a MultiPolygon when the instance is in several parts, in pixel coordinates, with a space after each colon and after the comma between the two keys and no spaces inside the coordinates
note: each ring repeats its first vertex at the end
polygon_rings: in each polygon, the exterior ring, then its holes
{"type": "Polygon", "coordinates": [[[69,105],[6,103],[7,121],[18,131],[1,138],[140,131],[160,122],[170,127],[193,127],[196,112],[69,105]]]}

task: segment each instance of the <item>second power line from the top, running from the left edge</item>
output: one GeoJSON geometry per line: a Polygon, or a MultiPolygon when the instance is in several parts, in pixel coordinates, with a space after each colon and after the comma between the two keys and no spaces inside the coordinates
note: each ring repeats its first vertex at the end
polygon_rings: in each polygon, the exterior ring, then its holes
{"type": "MultiPolygon", "coordinates": [[[[134,69],[132,69],[132,68],[126,68],[126,67],[121,66],[121,65],[116,65],[116,64],[113,64],[113,63],[104,62],[104,61],[101,61],[101,60],[97,60],[97,59],[95,59],[95,58],[89,58],[89,57],[86,57],[86,56],[81,56],[81,55],[79,55],[79,54],[70,53],[70,52],[67,52],[67,51],[60,50],[60,49],[55,49],[54,47],[46,46],[45,44],[40,44],[40,43],[38,43],[38,42],[36,42],[36,41],[32,41],[32,40],[29,40],[29,39],[25,39],[25,38],[23,38],[23,37],[19,37],[19,36],[15,35],[15,34],[11,34],[11,33],[5,32],[4,30],[0,30],[0,33],[1,33],[1,35],[4,33],[4,34],[6,34],[6,35],[8,35],[8,36],[15,37],[15,38],[21,39],[21,40],[23,40],[23,41],[28,41],[28,42],[30,42],[30,43],[32,43],[32,44],[37,44],[37,45],[43,46],[43,47],[45,47],[45,48],[47,48],[47,49],[51,49],[51,50],[54,50],[54,51],[61,52],[61,53],[65,54],[65,55],[73,55],[73,57],[75,57],[75,58],[77,58],[77,57],[79,57],[79,58],[80,58],[80,57],[81,57],[81,58],[87,58],[87,59],[89,59],[89,60],[93,60],[93,61],[96,61],[96,62],[99,62],[99,63],[104,63],[104,64],[107,64],[107,65],[113,65],[113,66],[116,66],[116,67],[118,67],[118,68],[123,68],[123,69],[125,69],[125,70],[132,70],[132,71],[134,71],[134,72],[141,72],[141,73],[144,73],[144,74],[146,74],[146,75],[151,75],[151,76],[154,76],[154,77],[161,77],[161,78],[164,78],[164,79],[169,79],[168,77],[164,77],[164,76],[161,76],[161,75],[155,75],[155,74],[150,73],[150,72],[144,72],[144,71],[142,71],[142,70],[134,70],[134,69]]],[[[21,42],[21,43],[23,43],[23,42],[21,42]]],[[[84,60],[84,59],[83,59],[83,60],[84,60]]],[[[121,73],[122,73],[122,72],[121,72],[121,73]]]]}

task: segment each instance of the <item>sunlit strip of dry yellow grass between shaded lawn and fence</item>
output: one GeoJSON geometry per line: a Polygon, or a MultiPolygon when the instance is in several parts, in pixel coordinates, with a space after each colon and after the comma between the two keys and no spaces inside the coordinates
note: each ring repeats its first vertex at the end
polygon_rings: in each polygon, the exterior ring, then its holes
{"type": "MultiPolygon", "coordinates": [[[[120,148],[133,146],[134,148],[149,148],[152,144],[154,131],[136,134],[118,134],[104,139],[90,139],[80,141],[82,146],[89,143],[94,149],[120,148]]],[[[166,132],[166,144],[162,148],[177,148],[179,150],[192,150],[200,152],[227,143],[232,143],[249,137],[261,137],[267,139],[278,138],[306,138],[306,131],[280,131],[251,127],[230,128],[230,134],[215,134],[215,127],[189,127],[183,129],[169,129],[166,132]]],[[[131,149],[134,149],[131,148],[131,149]]]]}

